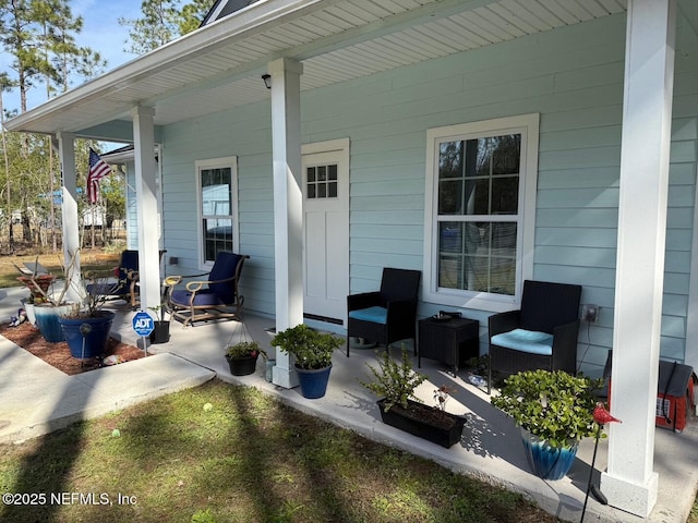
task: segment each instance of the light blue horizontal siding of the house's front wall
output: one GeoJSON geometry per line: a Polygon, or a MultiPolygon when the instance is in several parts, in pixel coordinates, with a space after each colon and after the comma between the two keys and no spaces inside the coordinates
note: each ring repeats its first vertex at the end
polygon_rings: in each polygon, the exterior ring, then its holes
{"type": "MultiPolygon", "coordinates": [[[[624,46],[625,16],[609,16],[304,93],[303,143],[351,143],[351,292],[377,289],[384,266],[423,267],[428,129],[540,113],[533,276],[578,282],[582,303],[602,307],[599,321],[582,324],[579,333],[580,368],[598,375],[613,342],[624,46]]],[[[682,360],[698,66],[679,54],[661,350],[682,360]]],[[[198,269],[194,161],[234,155],[240,252],[251,256],[242,278],[245,307],[273,314],[269,104],[170,125],[163,137],[165,246],[168,256],[179,256],[177,270],[198,269]]],[[[419,314],[440,308],[422,303],[419,314]]],[[[484,352],[488,313],[464,314],[481,321],[484,352]]]]}

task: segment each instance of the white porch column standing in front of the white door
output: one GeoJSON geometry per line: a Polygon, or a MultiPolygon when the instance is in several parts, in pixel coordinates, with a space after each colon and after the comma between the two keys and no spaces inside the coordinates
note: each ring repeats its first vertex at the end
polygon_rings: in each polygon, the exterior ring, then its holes
{"type": "MultiPolygon", "coordinates": [[[[272,142],[274,160],[274,259],[276,330],[303,323],[301,191],[301,100],[303,65],[286,58],[269,62],[272,75],[272,142]]],[[[290,357],[276,354],[273,382],[298,385],[290,357]]]]}

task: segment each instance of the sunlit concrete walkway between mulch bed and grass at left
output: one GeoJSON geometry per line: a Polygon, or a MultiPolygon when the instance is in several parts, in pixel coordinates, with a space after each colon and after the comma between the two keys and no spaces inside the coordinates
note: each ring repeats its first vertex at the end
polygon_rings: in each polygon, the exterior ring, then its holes
{"type": "MultiPolygon", "coordinates": [[[[24,294],[23,289],[0,290],[0,321],[16,314],[24,294]]],[[[119,319],[123,320],[122,314],[119,319]]],[[[0,337],[0,441],[34,438],[80,419],[196,387],[215,375],[196,363],[164,353],[68,376],[0,337]]]]}

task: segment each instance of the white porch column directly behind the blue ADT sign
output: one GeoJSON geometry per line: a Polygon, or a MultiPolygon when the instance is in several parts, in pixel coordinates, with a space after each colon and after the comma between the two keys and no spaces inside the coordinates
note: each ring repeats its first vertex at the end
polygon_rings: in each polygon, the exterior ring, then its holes
{"type": "MultiPolygon", "coordinates": [[[[160,303],[160,254],[157,229],[157,188],[155,184],[155,109],[136,106],[133,117],[136,215],[139,223],[139,281],[141,309],[160,303]]],[[[151,314],[154,314],[151,312],[151,314]]]]}

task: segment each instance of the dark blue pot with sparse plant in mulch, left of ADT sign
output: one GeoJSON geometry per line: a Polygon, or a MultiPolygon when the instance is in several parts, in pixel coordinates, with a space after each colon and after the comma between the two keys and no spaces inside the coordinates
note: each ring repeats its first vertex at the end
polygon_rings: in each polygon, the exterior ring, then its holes
{"type": "Polygon", "coordinates": [[[97,357],[107,349],[116,315],[112,311],[101,308],[107,295],[100,290],[107,289],[108,285],[99,283],[100,279],[104,278],[97,272],[86,272],[80,280],[81,284],[75,285],[82,297],[81,303],[72,304],[67,312],[59,315],[58,323],[73,357],[97,357]],[[85,281],[93,284],[86,285],[85,281]]]}

